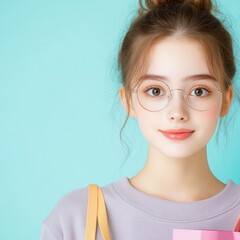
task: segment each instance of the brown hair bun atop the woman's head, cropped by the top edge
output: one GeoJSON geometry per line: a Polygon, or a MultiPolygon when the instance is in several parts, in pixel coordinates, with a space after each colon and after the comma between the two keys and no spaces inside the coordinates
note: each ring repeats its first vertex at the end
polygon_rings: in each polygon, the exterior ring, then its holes
{"type": "Polygon", "coordinates": [[[170,3],[191,4],[200,9],[212,11],[211,0],[139,0],[140,8],[144,11],[152,11],[170,3]]]}

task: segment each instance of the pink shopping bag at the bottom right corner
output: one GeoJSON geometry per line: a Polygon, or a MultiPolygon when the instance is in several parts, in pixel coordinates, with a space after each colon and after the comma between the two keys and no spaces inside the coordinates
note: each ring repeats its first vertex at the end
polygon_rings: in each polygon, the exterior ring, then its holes
{"type": "Polygon", "coordinates": [[[240,240],[240,216],[233,231],[174,229],[173,240],[240,240]]]}

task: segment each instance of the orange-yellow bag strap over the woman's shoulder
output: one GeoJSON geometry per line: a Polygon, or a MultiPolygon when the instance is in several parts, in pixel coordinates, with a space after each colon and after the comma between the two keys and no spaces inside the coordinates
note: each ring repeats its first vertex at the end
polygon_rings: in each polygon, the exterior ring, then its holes
{"type": "Polygon", "coordinates": [[[110,240],[107,212],[102,190],[96,184],[89,184],[86,220],[86,240],[96,239],[97,221],[104,240],[110,240]]]}

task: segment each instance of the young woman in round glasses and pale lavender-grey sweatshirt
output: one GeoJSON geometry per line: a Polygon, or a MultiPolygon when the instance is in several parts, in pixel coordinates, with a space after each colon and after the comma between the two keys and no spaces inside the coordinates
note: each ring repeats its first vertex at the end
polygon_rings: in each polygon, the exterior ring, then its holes
{"type": "MultiPolygon", "coordinates": [[[[149,151],[134,177],[101,188],[114,240],[171,240],[174,228],[232,230],[240,214],[240,185],[219,181],[207,159],[235,74],[231,36],[211,11],[210,0],[140,1],[123,40],[119,95],[149,151]]],[[[41,239],[85,239],[87,201],[87,187],[65,195],[41,239]]]]}

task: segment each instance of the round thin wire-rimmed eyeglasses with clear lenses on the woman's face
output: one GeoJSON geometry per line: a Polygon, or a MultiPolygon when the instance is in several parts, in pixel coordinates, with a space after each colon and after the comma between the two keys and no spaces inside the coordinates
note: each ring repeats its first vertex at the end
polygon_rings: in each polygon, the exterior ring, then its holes
{"type": "Polygon", "coordinates": [[[132,90],[137,93],[140,105],[151,112],[158,112],[164,109],[172,98],[173,91],[179,91],[187,105],[197,111],[205,111],[218,103],[222,91],[213,81],[194,80],[186,85],[184,89],[170,89],[161,80],[143,80],[132,90]]]}

